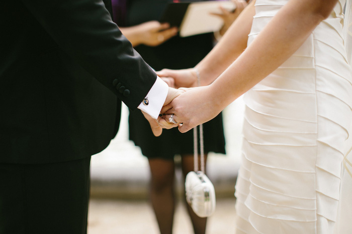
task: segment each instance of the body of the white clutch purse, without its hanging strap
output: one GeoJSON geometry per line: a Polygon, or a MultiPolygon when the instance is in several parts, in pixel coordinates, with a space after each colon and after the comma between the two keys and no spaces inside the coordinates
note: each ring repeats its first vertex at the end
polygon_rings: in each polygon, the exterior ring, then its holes
{"type": "Polygon", "coordinates": [[[200,217],[208,217],[215,211],[215,189],[202,172],[191,171],[186,176],[186,200],[200,217]]]}

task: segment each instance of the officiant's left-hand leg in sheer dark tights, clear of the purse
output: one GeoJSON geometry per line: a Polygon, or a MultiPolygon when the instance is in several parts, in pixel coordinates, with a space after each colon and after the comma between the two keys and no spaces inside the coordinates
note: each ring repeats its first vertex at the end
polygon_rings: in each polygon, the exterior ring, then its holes
{"type": "Polygon", "coordinates": [[[151,171],[150,199],[161,234],[172,233],[174,197],[174,162],[149,159],[151,171]]]}

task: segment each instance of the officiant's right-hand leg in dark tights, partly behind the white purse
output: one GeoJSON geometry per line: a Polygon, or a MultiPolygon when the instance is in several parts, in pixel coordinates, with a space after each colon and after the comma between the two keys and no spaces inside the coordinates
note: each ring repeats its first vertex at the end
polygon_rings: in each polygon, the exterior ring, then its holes
{"type": "MultiPolygon", "coordinates": [[[[191,154],[186,154],[186,155],[181,155],[181,156],[182,156],[182,172],[183,172],[184,179],[185,179],[187,173],[194,170],[194,157],[191,154]]],[[[204,155],[204,161],[205,162],[207,161],[207,154],[204,155]]],[[[199,170],[200,170],[200,167],[201,167],[200,157],[198,157],[198,165],[199,165],[199,170]]],[[[185,201],[186,201],[186,199],[185,199],[185,201]]],[[[186,201],[186,204],[187,204],[188,213],[189,213],[191,220],[192,220],[192,223],[193,223],[194,233],[195,234],[204,234],[205,227],[207,224],[207,218],[199,217],[195,212],[193,212],[192,207],[187,203],[187,201],[186,201]]]]}

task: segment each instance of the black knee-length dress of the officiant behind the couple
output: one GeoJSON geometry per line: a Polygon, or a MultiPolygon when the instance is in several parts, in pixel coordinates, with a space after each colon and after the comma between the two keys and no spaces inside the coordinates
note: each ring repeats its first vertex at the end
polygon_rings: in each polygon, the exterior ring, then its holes
{"type": "MultiPolygon", "coordinates": [[[[168,0],[128,0],[126,26],[158,20],[168,0]]],[[[184,69],[198,64],[213,48],[212,34],[187,38],[174,37],[157,47],[139,45],[135,50],[156,71],[163,68],[184,69]]],[[[129,138],[140,146],[148,158],[172,159],[175,154],[193,154],[193,130],[180,133],[177,128],[152,134],[149,123],[140,111],[129,115],[129,138]]],[[[225,138],[221,113],[204,124],[205,153],[225,153],[225,138]]]]}

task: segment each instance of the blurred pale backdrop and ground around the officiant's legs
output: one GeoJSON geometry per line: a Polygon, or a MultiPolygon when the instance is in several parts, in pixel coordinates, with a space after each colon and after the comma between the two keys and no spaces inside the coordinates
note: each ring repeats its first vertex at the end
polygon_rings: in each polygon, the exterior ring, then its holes
{"type": "MultiPolygon", "coordinates": [[[[241,98],[223,111],[226,155],[210,153],[207,175],[216,191],[216,211],[208,218],[207,233],[234,233],[234,186],[240,164],[241,129],[244,105],[241,98]]],[[[92,157],[91,201],[88,233],[159,233],[149,197],[148,160],[139,147],[128,140],[128,109],[123,107],[118,135],[108,148],[92,157]]],[[[165,130],[164,130],[165,131],[165,130]]],[[[178,165],[179,158],[175,157],[178,165]]],[[[181,169],[177,166],[178,202],[173,233],[193,233],[186,207],[181,169]]]]}

